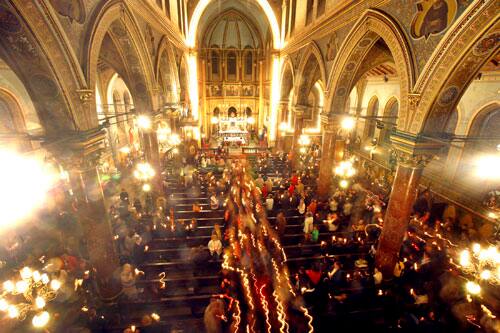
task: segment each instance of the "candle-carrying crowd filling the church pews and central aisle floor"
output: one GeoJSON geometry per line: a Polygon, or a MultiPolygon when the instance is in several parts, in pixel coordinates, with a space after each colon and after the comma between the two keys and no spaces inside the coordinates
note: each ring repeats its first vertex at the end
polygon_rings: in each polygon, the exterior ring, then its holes
{"type": "MultiPolygon", "coordinates": [[[[185,208],[193,213],[189,218],[179,217],[177,198],[168,195],[172,184],[166,181],[166,170],[163,188],[154,195],[142,191],[140,183],[129,182],[109,207],[121,266],[116,273],[122,289],[118,301],[158,295],[158,286],[138,283],[144,278],[140,268],[153,240],[195,236],[197,216],[212,211],[221,212],[223,223],[213,225],[206,245],[189,251],[195,266],[221,265],[219,293],[205,309],[207,332],[232,332],[238,325],[260,331],[267,329],[266,322],[278,328],[280,320],[302,332],[307,331],[309,314],[314,327],[325,332],[332,323],[345,331],[356,318],[367,321],[355,327],[375,325],[384,332],[498,329],[498,321],[468,298],[459,270],[450,264],[449,244],[483,240],[491,237],[491,230],[459,218],[453,206],[436,210],[431,193],[424,191],[413,207],[394,272],[383,276],[375,257],[387,193],[380,186],[370,188],[374,183],[366,180],[374,175],[364,173],[358,163],[361,172],[350,187],[334,186],[327,199],[317,197],[320,152],[317,145],[308,149],[295,157],[266,152],[254,161],[233,159],[224,149],[181,150],[173,174],[177,189],[207,199],[185,208]],[[289,231],[295,223],[290,221],[297,218],[300,238],[289,231]],[[299,254],[287,258],[287,246],[298,248],[299,254]],[[266,307],[272,315],[266,315],[266,307]]],[[[20,265],[43,266],[61,281],[81,280],[78,288],[63,283],[53,306],[74,308],[77,316],[70,326],[105,329],[113,314],[98,301],[86,244],[71,205],[63,207],[47,212],[45,222],[35,227],[43,228],[38,234],[50,240],[51,247],[42,253],[33,244],[39,245],[43,237],[33,241],[32,233],[17,235],[1,249],[0,274],[8,278],[20,265]]],[[[143,315],[140,325],[142,332],[160,331],[151,315],[143,315]]]]}

